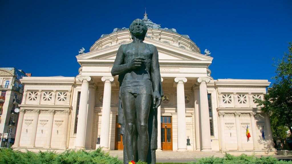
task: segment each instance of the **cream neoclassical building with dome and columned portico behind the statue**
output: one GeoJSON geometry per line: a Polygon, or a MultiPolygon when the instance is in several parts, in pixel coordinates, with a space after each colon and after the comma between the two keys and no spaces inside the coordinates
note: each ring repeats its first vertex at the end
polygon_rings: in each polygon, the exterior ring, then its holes
{"type": "MultiPolygon", "coordinates": [[[[208,69],[213,57],[201,54],[188,35],[161,28],[147,14],[143,21],[148,26],[144,41],[159,53],[164,90],[158,151],[272,151],[270,118],[255,103],[270,82],[213,79],[208,69]]],[[[76,77],[23,77],[13,147],[122,150],[119,82],[111,69],[119,46],[131,41],[128,28],[115,28],[76,56],[81,66],[76,77]]]]}

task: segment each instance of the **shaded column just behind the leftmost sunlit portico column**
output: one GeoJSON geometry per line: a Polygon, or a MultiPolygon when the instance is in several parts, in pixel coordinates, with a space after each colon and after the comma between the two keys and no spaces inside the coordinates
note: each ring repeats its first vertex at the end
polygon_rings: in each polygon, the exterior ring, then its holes
{"type": "Polygon", "coordinates": [[[95,100],[95,90],[96,86],[93,83],[89,86],[88,92],[88,108],[87,108],[87,121],[86,121],[86,135],[85,135],[85,149],[91,149],[91,139],[92,139],[92,126],[93,126],[93,116],[94,116],[94,100],[95,100]]]}

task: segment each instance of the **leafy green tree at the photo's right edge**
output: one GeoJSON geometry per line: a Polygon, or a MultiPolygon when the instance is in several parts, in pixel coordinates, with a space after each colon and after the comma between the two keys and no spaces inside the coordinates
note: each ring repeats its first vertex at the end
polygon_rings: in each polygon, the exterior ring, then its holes
{"type": "Polygon", "coordinates": [[[275,61],[275,82],[268,88],[264,100],[257,100],[258,106],[271,115],[272,128],[277,137],[283,137],[283,129],[288,127],[292,133],[292,42],[282,59],[275,61]]]}

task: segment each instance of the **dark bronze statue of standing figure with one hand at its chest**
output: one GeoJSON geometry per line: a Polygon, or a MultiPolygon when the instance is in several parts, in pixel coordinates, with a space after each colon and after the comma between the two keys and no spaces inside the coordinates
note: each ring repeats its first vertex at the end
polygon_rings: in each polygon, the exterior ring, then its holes
{"type": "Polygon", "coordinates": [[[157,108],[163,91],[158,51],[144,43],[147,26],[140,20],[130,25],[132,43],[119,47],[112,76],[119,75],[119,117],[124,143],[124,163],[156,163],[157,108]]]}

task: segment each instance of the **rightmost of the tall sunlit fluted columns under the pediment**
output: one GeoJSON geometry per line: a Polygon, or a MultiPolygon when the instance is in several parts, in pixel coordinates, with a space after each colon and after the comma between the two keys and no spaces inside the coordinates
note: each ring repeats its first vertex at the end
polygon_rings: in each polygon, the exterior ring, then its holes
{"type": "Polygon", "coordinates": [[[202,150],[201,151],[212,151],[208,92],[207,92],[207,83],[210,82],[210,79],[198,78],[198,82],[200,83],[200,109],[201,109],[200,113],[201,113],[201,132],[202,132],[202,150]]]}

